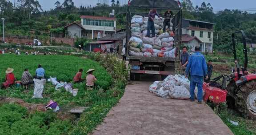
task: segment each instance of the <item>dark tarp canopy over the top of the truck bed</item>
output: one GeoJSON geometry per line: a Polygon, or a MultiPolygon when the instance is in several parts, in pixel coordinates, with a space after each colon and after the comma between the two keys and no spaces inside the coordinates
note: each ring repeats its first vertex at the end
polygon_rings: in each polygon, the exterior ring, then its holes
{"type": "Polygon", "coordinates": [[[180,8],[178,0],[130,0],[130,7],[180,8]]]}

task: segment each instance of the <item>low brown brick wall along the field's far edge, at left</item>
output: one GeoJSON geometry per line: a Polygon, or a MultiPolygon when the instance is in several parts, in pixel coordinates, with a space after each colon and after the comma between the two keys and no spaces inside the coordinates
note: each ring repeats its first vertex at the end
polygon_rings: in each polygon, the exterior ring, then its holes
{"type": "MultiPolygon", "coordinates": [[[[53,37],[52,40],[55,40],[56,43],[64,43],[64,44],[69,44],[71,46],[74,46],[75,39],[73,38],[57,38],[53,37]]],[[[32,39],[24,38],[24,37],[17,37],[17,36],[9,36],[5,37],[5,42],[7,43],[19,43],[19,44],[26,44],[26,43],[33,43],[32,39]]],[[[40,40],[40,42],[44,44],[43,41],[40,40]]],[[[50,44],[50,40],[46,42],[48,45],[50,44]]]]}

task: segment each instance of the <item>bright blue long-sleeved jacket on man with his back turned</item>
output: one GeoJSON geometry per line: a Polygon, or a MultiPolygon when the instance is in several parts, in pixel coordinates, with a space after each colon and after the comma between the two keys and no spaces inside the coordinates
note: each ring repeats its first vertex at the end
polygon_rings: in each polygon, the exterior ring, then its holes
{"type": "Polygon", "coordinates": [[[207,75],[207,64],[200,52],[194,53],[192,56],[189,57],[188,65],[186,68],[186,75],[197,75],[205,77],[207,75]]]}

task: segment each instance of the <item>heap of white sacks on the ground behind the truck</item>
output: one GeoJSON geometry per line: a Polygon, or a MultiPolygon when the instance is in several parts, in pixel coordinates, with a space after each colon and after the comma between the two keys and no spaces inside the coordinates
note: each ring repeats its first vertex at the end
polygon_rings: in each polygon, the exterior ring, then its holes
{"type": "MultiPolygon", "coordinates": [[[[164,81],[154,82],[149,87],[149,91],[163,98],[189,99],[190,81],[184,75],[168,75],[164,81]]],[[[197,96],[197,87],[195,89],[195,95],[197,96]]]]}

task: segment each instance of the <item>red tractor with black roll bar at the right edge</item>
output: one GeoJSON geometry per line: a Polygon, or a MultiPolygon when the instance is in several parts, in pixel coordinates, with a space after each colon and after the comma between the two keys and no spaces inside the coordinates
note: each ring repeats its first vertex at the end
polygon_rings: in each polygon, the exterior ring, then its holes
{"type": "Polygon", "coordinates": [[[222,103],[227,100],[227,104],[230,106],[233,104],[242,115],[256,120],[256,74],[247,71],[248,51],[244,31],[232,33],[232,51],[236,64],[235,70],[232,70],[231,75],[220,75],[210,83],[204,83],[204,101],[222,103]],[[236,56],[235,35],[238,33],[242,34],[244,67],[240,67],[236,56]],[[217,83],[221,79],[221,83],[217,83]],[[227,82],[229,82],[228,85],[227,82]]]}

